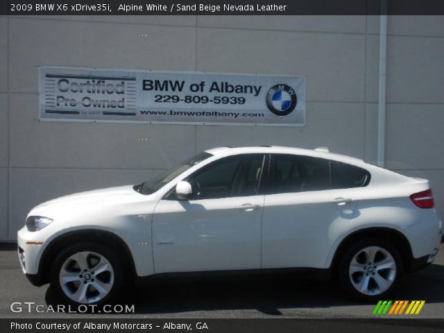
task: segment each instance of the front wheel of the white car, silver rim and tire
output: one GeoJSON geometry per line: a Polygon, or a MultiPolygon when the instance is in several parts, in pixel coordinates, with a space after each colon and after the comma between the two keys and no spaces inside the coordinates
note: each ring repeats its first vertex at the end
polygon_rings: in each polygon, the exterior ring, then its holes
{"type": "Polygon", "coordinates": [[[51,268],[51,288],[62,303],[103,305],[123,283],[121,259],[101,244],[68,246],[51,268]]]}

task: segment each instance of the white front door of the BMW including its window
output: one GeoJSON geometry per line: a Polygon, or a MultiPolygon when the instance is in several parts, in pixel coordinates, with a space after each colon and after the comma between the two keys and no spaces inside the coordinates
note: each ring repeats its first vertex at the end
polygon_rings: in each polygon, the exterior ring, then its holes
{"type": "Polygon", "coordinates": [[[155,273],[261,267],[263,154],[223,157],[186,180],[191,200],[172,192],[153,214],[155,273]]]}

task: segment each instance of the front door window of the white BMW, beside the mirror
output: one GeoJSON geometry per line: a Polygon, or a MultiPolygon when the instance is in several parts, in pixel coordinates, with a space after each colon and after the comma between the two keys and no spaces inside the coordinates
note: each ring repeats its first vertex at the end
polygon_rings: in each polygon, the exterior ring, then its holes
{"type": "Polygon", "coordinates": [[[262,154],[225,157],[196,171],[186,180],[193,187],[194,200],[254,196],[263,165],[262,154]]]}

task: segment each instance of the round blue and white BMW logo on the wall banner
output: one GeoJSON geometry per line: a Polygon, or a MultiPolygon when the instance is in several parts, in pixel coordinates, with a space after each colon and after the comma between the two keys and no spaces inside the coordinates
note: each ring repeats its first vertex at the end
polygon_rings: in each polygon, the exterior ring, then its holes
{"type": "Polygon", "coordinates": [[[283,83],[273,85],[266,94],[266,106],[277,116],[287,116],[293,112],[296,103],[298,103],[298,96],[295,90],[283,83]]]}

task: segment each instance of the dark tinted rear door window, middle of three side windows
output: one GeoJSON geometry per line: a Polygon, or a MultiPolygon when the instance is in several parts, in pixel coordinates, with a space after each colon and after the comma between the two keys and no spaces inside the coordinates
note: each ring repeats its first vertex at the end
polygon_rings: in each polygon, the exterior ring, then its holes
{"type": "Polygon", "coordinates": [[[267,194],[330,189],[329,161],[302,155],[271,155],[267,194]]]}

